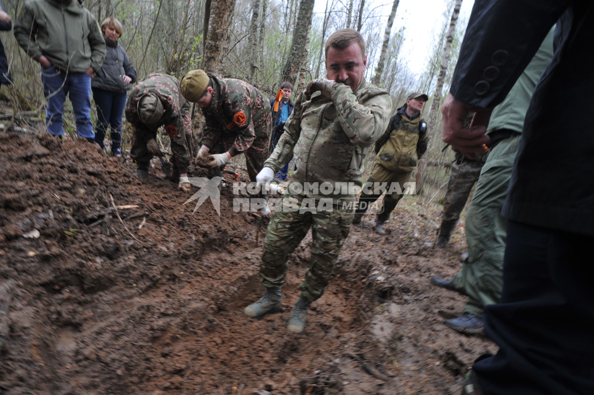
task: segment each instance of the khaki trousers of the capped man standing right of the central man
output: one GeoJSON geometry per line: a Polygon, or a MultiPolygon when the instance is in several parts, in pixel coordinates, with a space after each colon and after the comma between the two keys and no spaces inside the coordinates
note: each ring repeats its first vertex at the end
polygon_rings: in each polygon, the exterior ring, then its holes
{"type": "MultiPolygon", "coordinates": [[[[375,163],[375,166],[373,168],[373,171],[371,173],[371,176],[369,176],[369,178],[367,179],[367,181],[365,181],[365,184],[367,184],[368,182],[371,182],[372,184],[374,182],[387,182],[388,183],[388,188],[389,186],[393,183],[396,182],[397,184],[400,185],[400,189],[402,189],[402,191],[405,190],[404,184],[405,182],[409,182],[410,178],[412,176],[412,171],[402,171],[402,170],[396,170],[395,172],[393,170],[388,170],[386,168],[384,168],[384,166],[380,165],[379,163],[375,163]]],[[[366,203],[371,204],[374,201],[378,200],[378,198],[381,197],[381,193],[380,194],[369,194],[366,192],[366,190],[364,189],[363,192],[361,193],[361,196],[359,197],[359,200],[361,201],[366,201],[366,203]]],[[[377,214],[377,219],[379,221],[387,221],[388,218],[390,218],[390,213],[392,211],[394,211],[394,208],[396,208],[396,205],[398,204],[398,202],[400,201],[400,199],[402,199],[402,197],[404,196],[404,194],[399,194],[398,192],[393,192],[389,195],[386,195],[386,197],[384,197],[384,210],[377,214]]],[[[363,214],[365,213],[365,211],[367,211],[367,208],[369,206],[366,206],[365,208],[361,208],[359,210],[357,210],[357,214],[363,214]]]]}

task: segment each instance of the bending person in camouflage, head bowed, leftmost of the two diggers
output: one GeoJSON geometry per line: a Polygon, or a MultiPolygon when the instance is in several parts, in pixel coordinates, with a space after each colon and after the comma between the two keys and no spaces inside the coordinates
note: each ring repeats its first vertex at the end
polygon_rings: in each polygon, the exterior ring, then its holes
{"type": "Polygon", "coordinates": [[[167,74],[147,75],[128,97],[126,119],[132,124],[130,155],[136,161],[137,177],[149,175],[150,160],[163,156],[157,146],[157,129],[165,126],[171,139],[173,179],[178,188],[190,191],[188,166],[192,158],[192,109],[179,91],[179,81],[167,74]]]}

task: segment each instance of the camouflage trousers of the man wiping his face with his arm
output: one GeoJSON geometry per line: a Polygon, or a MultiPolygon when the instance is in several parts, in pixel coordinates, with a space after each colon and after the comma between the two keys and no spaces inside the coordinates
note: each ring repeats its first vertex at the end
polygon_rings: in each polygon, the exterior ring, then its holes
{"type": "MultiPolygon", "coordinates": [[[[286,194],[284,198],[294,198],[301,206],[305,197],[286,194]]],[[[311,261],[300,289],[303,296],[315,301],[323,295],[330,283],[334,264],[349,235],[353,213],[341,213],[336,209],[317,213],[293,212],[287,210],[285,200],[282,207],[282,210],[274,213],[264,239],[260,264],[262,283],[266,287],[279,287],[285,283],[289,255],[311,228],[311,261]]]]}

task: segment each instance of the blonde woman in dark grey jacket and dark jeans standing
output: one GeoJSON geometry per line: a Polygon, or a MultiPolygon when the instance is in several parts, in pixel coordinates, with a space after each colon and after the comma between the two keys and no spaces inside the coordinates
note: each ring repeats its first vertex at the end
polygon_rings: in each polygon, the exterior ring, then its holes
{"type": "Polygon", "coordinates": [[[106,18],[101,24],[107,53],[102,68],[91,82],[93,99],[97,106],[95,141],[101,148],[105,148],[103,139],[105,132],[111,127],[111,153],[117,157],[122,156],[122,113],[126,105],[126,91],[132,88],[131,83],[136,80],[136,71],[128,54],[118,45],[123,30],[116,18],[106,18]]]}

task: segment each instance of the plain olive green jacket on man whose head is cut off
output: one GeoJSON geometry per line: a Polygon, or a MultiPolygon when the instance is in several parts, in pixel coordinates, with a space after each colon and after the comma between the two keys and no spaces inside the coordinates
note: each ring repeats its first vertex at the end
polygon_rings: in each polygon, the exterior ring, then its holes
{"type": "Polygon", "coordinates": [[[27,55],[45,56],[55,67],[71,72],[98,71],[105,58],[105,40],[83,0],[29,0],[21,7],[14,36],[27,55]]]}

